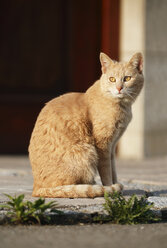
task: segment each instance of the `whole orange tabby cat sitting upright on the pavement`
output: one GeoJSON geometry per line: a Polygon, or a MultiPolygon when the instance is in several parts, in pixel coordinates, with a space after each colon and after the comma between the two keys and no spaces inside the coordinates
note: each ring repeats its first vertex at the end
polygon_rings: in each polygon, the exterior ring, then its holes
{"type": "Polygon", "coordinates": [[[118,63],[101,53],[100,61],[100,80],[85,93],[53,99],[38,116],[29,146],[33,196],[94,198],[122,190],[115,146],[143,86],[143,59],[136,53],[118,63]],[[95,185],[97,171],[103,186],[95,185]]]}

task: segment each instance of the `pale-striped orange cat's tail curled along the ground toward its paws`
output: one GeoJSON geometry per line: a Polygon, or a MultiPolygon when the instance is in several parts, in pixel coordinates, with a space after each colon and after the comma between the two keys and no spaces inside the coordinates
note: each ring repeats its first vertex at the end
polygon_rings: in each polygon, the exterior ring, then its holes
{"type": "Polygon", "coordinates": [[[123,189],[121,184],[111,186],[101,185],[64,185],[55,188],[40,188],[33,191],[32,196],[49,198],[95,198],[104,196],[104,192],[120,192],[123,189]]]}

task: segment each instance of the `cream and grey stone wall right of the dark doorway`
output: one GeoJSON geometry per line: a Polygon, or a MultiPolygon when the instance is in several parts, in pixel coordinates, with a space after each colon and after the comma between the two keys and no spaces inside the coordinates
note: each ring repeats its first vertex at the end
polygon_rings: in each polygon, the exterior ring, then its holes
{"type": "Polygon", "coordinates": [[[121,0],[120,59],[144,56],[145,87],[119,144],[122,158],[167,154],[167,1],[121,0]]]}

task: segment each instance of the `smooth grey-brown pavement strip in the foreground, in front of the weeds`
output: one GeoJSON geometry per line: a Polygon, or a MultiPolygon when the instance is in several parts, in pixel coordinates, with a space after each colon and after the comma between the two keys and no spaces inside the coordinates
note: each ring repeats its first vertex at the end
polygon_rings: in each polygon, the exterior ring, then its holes
{"type": "Polygon", "coordinates": [[[167,223],[0,226],[0,248],[166,248],[167,223]]]}

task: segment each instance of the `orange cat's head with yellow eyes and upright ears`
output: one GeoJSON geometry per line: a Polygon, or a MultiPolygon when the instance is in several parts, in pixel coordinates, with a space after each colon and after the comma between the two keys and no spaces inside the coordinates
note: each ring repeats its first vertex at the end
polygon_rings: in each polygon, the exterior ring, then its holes
{"type": "Polygon", "coordinates": [[[133,102],[140,93],[143,77],[143,57],[136,53],[129,62],[111,60],[106,54],[100,53],[102,77],[101,89],[108,97],[125,99],[133,102]]]}

